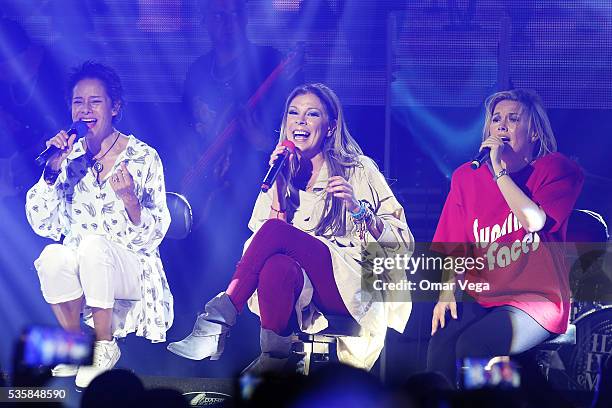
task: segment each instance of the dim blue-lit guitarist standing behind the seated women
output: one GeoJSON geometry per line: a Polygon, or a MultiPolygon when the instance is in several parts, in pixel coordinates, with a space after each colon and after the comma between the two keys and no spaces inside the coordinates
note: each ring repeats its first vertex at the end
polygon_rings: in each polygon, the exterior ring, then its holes
{"type": "MultiPolygon", "coordinates": [[[[241,243],[248,237],[249,215],[268,152],[278,138],[283,99],[295,81],[289,79],[295,68],[283,71],[256,106],[249,108],[247,101],[282,55],[247,37],[246,1],[203,1],[202,11],[212,48],[188,70],[182,104],[188,126],[167,149],[176,155],[173,166],[167,168],[168,189],[186,195],[194,227],[186,239],[165,245],[174,254],[185,254],[172,260],[175,270],[184,271],[173,280],[182,279],[177,284],[185,290],[212,296],[212,291],[206,291],[229,279],[240,258],[241,243]],[[221,139],[232,119],[235,130],[221,139]],[[206,156],[213,146],[218,149],[206,156]],[[202,156],[208,157],[203,170],[194,171],[202,156]],[[196,278],[194,269],[205,273],[196,278]]],[[[186,306],[188,310],[196,307],[186,306]]]]}

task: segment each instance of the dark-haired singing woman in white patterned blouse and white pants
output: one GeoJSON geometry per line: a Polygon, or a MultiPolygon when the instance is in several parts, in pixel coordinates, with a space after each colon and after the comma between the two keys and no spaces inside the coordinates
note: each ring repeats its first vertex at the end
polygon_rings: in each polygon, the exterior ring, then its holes
{"type": "Polygon", "coordinates": [[[70,75],[68,95],[72,120],[86,123],[87,134],[76,140],[61,131],[47,141],[59,151],[28,191],[26,214],[38,235],[63,237],[34,263],[45,300],[74,332],[85,307],[96,334],[92,366],[60,365],[53,374],[76,374],[76,385],[87,387],[119,360],[115,338],[166,339],[172,294],[158,246],[170,215],[157,152],[115,129],[123,102],[116,72],[86,62],[70,75]]]}

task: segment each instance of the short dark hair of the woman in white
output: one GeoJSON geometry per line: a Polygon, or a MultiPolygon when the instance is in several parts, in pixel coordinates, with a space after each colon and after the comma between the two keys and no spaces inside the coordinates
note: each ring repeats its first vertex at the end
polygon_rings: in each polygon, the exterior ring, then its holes
{"type": "Polygon", "coordinates": [[[83,79],[97,79],[102,82],[106,93],[111,98],[113,106],[123,107],[123,87],[121,79],[114,69],[108,65],[95,61],[85,61],[82,65],[73,68],[68,75],[66,83],[66,101],[68,106],[72,103],[72,91],[76,84],[83,79]]]}

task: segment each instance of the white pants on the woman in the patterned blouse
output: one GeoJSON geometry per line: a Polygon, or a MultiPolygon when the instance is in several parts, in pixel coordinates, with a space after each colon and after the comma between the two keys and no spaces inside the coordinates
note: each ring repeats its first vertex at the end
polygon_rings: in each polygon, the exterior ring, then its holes
{"type": "Polygon", "coordinates": [[[101,235],[84,237],[76,250],[47,245],[34,266],[47,303],[85,295],[87,306],[110,309],[115,299],[141,298],[138,256],[101,235]]]}

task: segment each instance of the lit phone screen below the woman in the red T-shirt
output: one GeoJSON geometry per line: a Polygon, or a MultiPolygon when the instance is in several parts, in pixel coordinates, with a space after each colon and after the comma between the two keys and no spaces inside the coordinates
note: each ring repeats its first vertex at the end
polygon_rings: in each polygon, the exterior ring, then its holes
{"type": "Polygon", "coordinates": [[[521,385],[519,368],[508,357],[465,358],[461,371],[463,389],[518,388],[521,385]]]}

